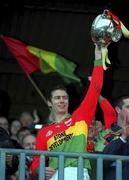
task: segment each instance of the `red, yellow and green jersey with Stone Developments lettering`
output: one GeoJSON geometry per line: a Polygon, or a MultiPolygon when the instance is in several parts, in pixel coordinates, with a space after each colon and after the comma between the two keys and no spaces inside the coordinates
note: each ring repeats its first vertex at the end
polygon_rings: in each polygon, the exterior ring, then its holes
{"type": "MultiPolygon", "coordinates": [[[[94,118],[98,97],[102,89],[102,61],[95,61],[92,80],[80,106],[61,123],[51,124],[42,128],[37,135],[36,149],[60,152],[86,152],[88,127],[94,118]]],[[[34,157],[32,172],[35,174],[39,165],[38,156],[34,157]]],[[[49,166],[57,169],[58,159],[49,158],[49,166]]],[[[64,166],[77,166],[74,158],[65,158],[64,166]]],[[[84,166],[90,169],[90,163],[85,160],[84,166]]]]}

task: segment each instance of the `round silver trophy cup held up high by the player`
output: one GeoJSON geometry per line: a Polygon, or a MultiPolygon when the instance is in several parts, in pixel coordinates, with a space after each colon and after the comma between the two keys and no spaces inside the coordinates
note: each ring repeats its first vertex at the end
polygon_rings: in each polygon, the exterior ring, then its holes
{"type": "Polygon", "coordinates": [[[100,46],[107,46],[112,41],[117,42],[122,36],[122,31],[109,11],[104,10],[103,14],[98,15],[91,26],[92,41],[100,46]]]}

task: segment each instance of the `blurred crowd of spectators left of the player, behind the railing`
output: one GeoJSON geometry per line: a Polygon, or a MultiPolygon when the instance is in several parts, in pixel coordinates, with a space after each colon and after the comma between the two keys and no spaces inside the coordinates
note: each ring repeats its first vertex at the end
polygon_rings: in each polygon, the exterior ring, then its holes
{"type": "MultiPolygon", "coordinates": [[[[18,119],[10,121],[0,117],[0,148],[26,149],[34,150],[36,145],[37,129],[35,125],[40,119],[37,111],[33,113],[23,112],[18,119]]],[[[26,157],[26,180],[36,179],[32,176],[30,165],[32,157],[26,157]]],[[[19,159],[17,155],[8,154],[6,156],[6,179],[18,180],[19,159]]]]}

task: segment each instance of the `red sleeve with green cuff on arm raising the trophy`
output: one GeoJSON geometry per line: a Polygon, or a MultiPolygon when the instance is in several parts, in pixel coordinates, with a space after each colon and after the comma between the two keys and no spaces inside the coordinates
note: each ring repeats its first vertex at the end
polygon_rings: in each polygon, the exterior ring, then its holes
{"type": "Polygon", "coordinates": [[[76,111],[73,112],[72,118],[77,120],[85,120],[87,125],[94,118],[98,98],[103,85],[103,66],[102,60],[96,60],[94,63],[94,69],[92,72],[92,79],[88,91],[76,111]]]}

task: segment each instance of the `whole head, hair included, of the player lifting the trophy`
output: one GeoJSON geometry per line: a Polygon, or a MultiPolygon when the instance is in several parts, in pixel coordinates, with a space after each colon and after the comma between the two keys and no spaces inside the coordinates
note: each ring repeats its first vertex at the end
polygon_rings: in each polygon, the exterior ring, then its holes
{"type": "Polygon", "coordinates": [[[48,95],[48,106],[56,115],[68,113],[69,96],[64,86],[58,85],[50,90],[48,95]]]}

